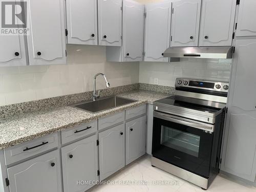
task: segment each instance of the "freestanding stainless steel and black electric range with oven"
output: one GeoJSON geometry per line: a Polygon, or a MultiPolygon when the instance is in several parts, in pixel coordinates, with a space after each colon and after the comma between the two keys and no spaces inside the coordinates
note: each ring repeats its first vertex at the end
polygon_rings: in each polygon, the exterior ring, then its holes
{"type": "Polygon", "coordinates": [[[177,78],[154,102],[152,165],[207,189],[219,173],[228,83],[177,78]]]}

